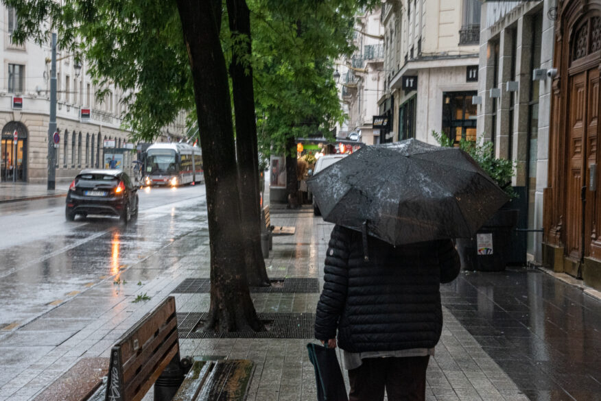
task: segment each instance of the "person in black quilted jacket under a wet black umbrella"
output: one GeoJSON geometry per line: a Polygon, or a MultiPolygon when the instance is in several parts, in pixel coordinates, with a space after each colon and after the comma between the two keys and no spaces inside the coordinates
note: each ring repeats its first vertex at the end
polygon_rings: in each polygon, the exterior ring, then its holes
{"type": "Polygon", "coordinates": [[[385,389],[390,401],[425,400],[440,283],[460,271],[451,238],[473,234],[506,196],[460,149],[415,140],[364,147],[307,184],[336,223],[315,337],[342,349],[349,400],[384,400],[385,389]]]}

